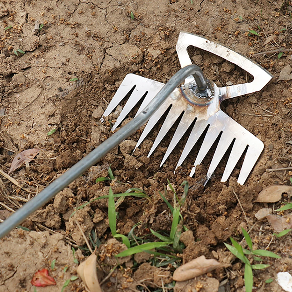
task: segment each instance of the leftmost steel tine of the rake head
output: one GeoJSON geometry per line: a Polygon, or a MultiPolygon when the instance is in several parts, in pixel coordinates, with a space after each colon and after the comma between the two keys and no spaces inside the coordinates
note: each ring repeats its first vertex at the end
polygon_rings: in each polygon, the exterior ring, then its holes
{"type": "MultiPolygon", "coordinates": [[[[140,76],[135,75],[135,74],[126,75],[121,85],[119,86],[117,92],[114,94],[114,97],[112,98],[111,102],[107,106],[103,114],[104,117],[107,117],[119,105],[119,103],[125,98],[125,96],[131,91],[131,89],[137,84],[137,81],[138,81],[137,79],[141,78],[141,77],[140,78],[137,78],[137,77],[140,77],[140,76]]],[[[101,118],[100,121],[103,122],[104,119],[101,118]]]]}

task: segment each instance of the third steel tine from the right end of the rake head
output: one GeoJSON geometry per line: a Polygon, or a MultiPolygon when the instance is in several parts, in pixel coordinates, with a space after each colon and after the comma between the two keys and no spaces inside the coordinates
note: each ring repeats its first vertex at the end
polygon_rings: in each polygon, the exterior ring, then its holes
{"type": "Polygon", "coordinates": [[[206,185],[206,183],[208,183],[208,180],[211,177],[211,174],[215,171],[216,167],[218,166],[220,160],[222,159],[228,147],[232,143],[233,139],[234,139],[234,135],[232,135],[232,133],[230,133],[229,131],[223,131],[220,137],[219,143],[216,147],[211,164],[208,168],[207,180],[205,181],[204,186],[206,185]]]}

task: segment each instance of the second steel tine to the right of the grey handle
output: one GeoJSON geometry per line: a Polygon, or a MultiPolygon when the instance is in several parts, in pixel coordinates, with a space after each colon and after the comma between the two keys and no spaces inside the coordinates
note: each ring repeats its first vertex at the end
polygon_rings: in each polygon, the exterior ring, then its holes
{"type": "Polygon", "coordinates": [[[150,155],[153,153],[153,151],[156,149],[158,144],[161,142],[161,140],[164,138],[164,136],[167,134],[169,129],[173,126],[175,121],[178,119],[180,114],[184,111],[184,107],[180,106],[180,99],[174,100],[172,103],[172,107],[169,110],[166,119],[164,120],[164,123],[162,124],[160,131],[151,147],[151,150],[147,157],[150,157],[150,155]]]}

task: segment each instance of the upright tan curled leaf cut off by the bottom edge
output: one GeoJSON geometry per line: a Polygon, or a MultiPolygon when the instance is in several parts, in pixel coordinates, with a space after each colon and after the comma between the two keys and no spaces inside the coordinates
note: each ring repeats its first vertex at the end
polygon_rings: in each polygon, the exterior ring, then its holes
{"type": "Polygon", "coordinates": [[[93,252],[77,268],[79,277],[82,279],[86,289],[90,292],[102,292],[96,272],[96,258],[97,256],[93,252]]]}

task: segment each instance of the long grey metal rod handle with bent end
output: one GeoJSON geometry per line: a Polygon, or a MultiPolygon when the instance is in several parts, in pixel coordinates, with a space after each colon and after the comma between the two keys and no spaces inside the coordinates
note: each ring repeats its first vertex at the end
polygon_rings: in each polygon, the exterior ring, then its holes
{"type": "Polygon", "coordinates": [[[95,165],[102,157],[104,157],[114,147],[119,145],[122,141],[128,138],[132,133],[144,125],[166,98],[173,92],[173,90],[186,77],[195,74],[201,78],[201,84],[204,84],[205,79],[201,69],[197,65],[188,65],[180,69],[177,73],[169,79],[169,81],[161,88],[155,97],[148,103],[145,109],[137,115],[133,120],[128,122],[123,128],[110,136],[102,144],[96,147],[86,157],[82,158],[74,164],[68,171],[53,181],[44,190],[37,194],[34,198],[28,201],[22,208],[9,216],[3,223],[0,224],[0,238],[8,234],[14,227],[18,226],[34,211],[38,210],[48,201],[50,201],[58,192],[63,190],[73,180],[78,178],[88,168],[95,165]],[[202,77],[203,76],[203,77],[202,77]]]}

